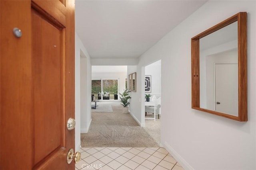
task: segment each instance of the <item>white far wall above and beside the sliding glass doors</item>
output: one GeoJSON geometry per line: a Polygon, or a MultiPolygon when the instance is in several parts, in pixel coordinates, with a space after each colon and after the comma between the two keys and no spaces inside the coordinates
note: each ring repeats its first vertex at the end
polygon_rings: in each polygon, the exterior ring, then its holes
{"type": "MultiPolygon", "coordinates": [[[[125,90],[125,79],[127,78],[127,72],[96,72],[92,73],[92,80],[100,79],[100,78],[114,78],[119,79],[118,84],[118,92],[122,93],[125,90]]],[[[118,101],[119,101],[118,97],[118,101]]],[[[105,102],[107,102],[106,100],[105,102]]]]}

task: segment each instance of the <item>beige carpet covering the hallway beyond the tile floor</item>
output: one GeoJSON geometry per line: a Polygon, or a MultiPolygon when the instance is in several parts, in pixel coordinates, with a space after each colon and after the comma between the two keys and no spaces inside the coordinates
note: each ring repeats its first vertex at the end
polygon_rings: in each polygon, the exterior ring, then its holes
{"type": "MultiPolygon", "coordinates": [[[[107,104],[97,102],[97,105],[107,104]]],[[[159,122],[150,127],[140,127],[130,113],[121,113],[122,105],[111,102],[112,112],[92,111],[92,123],[88,133],[81,133],[82,147],[159,147],[159,122]],[[149,131],[149,133],[146,131],[149,131]],[[155,139],[154,139],[155,138],[155,139]]],[[[152,125],[154,122],[150,122],[152,125]]],[[[147,124],[147,123],[146,123],[147,124]]]]}

